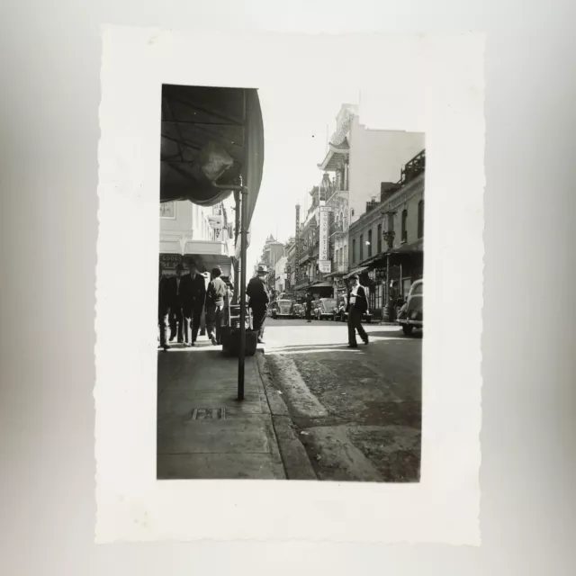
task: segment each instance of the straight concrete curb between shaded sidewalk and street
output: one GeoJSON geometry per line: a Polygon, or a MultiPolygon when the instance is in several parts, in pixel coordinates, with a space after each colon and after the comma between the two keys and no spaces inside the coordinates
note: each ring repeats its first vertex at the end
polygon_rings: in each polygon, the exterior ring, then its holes
{"type": "Polygon", "coordinates": [[[296,434],[288,407],[275,388],[263,351],[259,350],[257,352],[256,360],[258,374],[264,385],[266,400],[272,414],[272,424],[284,464],[286,478],[288,480],[318,480],[306,454],[306,449],[296,434]]]}

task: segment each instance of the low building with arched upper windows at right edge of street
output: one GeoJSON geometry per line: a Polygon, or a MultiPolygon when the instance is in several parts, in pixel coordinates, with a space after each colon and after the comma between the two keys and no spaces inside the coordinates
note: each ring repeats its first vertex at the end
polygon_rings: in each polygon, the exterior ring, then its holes
{"type": "Polygon", "coordinates": [[[364,213],[350,226],[348,274],[361,276],[376,316],[422,278],[425,174],[422,150],[403,166],[400,181],[382,184],[378,202],[366,202],[364,213]]]}

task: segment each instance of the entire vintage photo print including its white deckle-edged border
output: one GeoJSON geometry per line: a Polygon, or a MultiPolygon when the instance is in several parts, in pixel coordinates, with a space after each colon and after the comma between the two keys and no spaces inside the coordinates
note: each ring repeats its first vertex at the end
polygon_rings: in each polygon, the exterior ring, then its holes
{"type": "Polygon", "coordinates": [[[482,58],[106,29],[100,542],[479,541],[482,58]]]}

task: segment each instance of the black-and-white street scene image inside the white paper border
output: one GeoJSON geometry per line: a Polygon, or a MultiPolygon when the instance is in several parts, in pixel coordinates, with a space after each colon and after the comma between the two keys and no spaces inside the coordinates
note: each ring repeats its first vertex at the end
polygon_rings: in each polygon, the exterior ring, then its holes
{"type": "Polygon", "coordinates": [[[351,93],[162,86],[159,480],[419,482],[425,135],[351,93]]]}

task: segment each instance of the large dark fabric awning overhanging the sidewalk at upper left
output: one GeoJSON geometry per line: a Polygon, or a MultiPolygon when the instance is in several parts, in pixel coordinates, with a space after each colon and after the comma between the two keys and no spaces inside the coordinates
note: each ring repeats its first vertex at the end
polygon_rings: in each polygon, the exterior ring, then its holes
{"type": "Polygon", "coordinates": [[[160,202],[212,206],[247,186],[248,224],[264,166],[257,90],[163,85],[160,202]]]}

